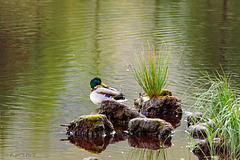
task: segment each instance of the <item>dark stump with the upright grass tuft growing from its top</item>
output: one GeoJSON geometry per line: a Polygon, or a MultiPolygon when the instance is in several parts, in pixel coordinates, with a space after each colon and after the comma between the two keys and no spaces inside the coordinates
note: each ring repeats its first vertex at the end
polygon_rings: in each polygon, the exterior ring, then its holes
{"type": "Polygon", "coordinates": [[[134,101],[135,108],[148,118],[160,118],[171,123],[174,128],[180,126],[182,118],[181,100],[172,96],[169,90],[163,90],[162,95],[149,100],[140,94],[134,101]]]}

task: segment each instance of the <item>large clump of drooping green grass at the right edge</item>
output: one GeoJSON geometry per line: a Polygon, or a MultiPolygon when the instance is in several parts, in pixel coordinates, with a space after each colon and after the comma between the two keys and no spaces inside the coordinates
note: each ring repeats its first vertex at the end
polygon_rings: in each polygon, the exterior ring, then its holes
{"type": "Polygon", "coordinates": [[[214,78],[207,76],[207,83],[197,96],[196,106],[203,113],[203,117],[212,119],[215,127],[207,127],[207,140],[211,154],[218,154],[213,148],[213,138],[217,137],[227,150],[227,156],[233,159],[240,158],[240,98],[231,86],[231,76],[222,71],[217,72],[214,78]],[[208,87],[206,87],[208,86],[208,87]]]}

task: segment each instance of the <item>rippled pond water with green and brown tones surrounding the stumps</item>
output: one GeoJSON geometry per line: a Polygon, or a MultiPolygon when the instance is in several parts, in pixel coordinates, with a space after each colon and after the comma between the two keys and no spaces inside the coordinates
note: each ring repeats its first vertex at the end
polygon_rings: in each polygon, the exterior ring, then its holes
{"type": "MultiPolygon", "coordinates": [[[[97,108],[89,81],[101,77],[132,105],[142,91],[128,68],[132,48],[171,44],[167,88],[186,114],[202,73],[221,64],[240,83],[239,6],[238,0],[0,0],[1,159],[131,159],[136,149],[128,141],[100,154],[60,141],[66,138],[60,124],[97,108]]],[[[184,119],[165,151],[168,160],[197,159],[186,147],[184,119]]]]}

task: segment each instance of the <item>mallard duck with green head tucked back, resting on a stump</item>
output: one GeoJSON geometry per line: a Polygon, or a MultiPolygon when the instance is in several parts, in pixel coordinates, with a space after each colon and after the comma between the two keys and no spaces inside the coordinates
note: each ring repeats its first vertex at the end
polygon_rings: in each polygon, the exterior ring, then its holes
{"type": "Polygon", "coordinates": [[[121,92],[114,88],[107,87],[98,77],[93,78],[90,81],[90,86],[92,88],[90,99],[96,105],[100,105],[105,99],[112,99],[118,102],[123,102],[126,100],[121,92]],[[98,87],[98,85],[101,85],[102,87],[98,87]]]}

